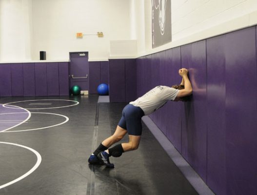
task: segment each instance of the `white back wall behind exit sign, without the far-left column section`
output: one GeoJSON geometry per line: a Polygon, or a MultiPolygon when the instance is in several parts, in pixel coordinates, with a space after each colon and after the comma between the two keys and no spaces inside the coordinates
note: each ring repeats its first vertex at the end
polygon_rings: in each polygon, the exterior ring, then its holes
{"type": "Polygon", "coordinates": [[[88,51],[90,60],[109,57],[110,40],[131,39],[130,0],[33,0],[33,55],[69,59],[69,52],[88,51]],[[104,36],[83,36],[76,33],[104,36]]]}

